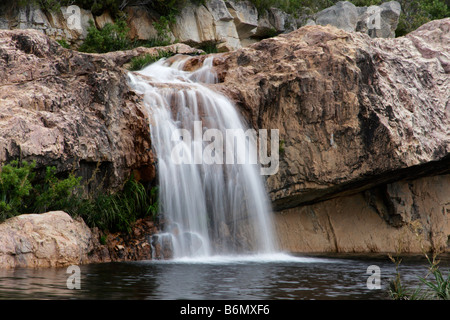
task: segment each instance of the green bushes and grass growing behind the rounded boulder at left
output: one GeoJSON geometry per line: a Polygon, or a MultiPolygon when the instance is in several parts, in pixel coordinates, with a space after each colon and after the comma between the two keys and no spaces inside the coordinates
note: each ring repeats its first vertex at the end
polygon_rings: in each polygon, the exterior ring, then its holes
{"type": "Polygon", "coordinates": [[[81,178],[73,173],[58,178],[56,168],[47,167],[45,176],[38,178],[35,169],[35,163],[25,161],[12,161],[1,168],[0,221],[24,213],[63,210],[82,217],[90,227],[128,232],[138,218],[156,218],[158,189],[147,192],[133,177],[120,192],[83,196],[81,178]]]}

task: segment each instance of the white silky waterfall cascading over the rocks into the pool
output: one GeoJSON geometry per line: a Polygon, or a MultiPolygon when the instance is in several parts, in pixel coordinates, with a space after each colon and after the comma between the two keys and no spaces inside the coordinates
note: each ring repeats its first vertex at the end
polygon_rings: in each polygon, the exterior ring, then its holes
{"type": "MultiPolygon", "coordinates": [[[[129,75],[131,87],[144,96],[150,115],[160,211],[165,221],[160,237],[171,239],[174,258],[275,252],[269,200],[259,166],[248,161],[202,161],[201,153],[213,141],[205,139],[207,129],[246,128],[233,104],[204,85],[216,82],[212,57],[195,72],[182,71],[187,58],[162,59],[129,75]],[[174,132],[180,130],[193,139],[180,140],[176,135],[178,139],[174,139],[174,132]],[[179,163],[174,155],[186,156],[184,160],[187,155],[192,157],[190,162],[179,163]]],[[[244,142],[247,147],[252,143],[244,142]]],[[[234,152],[232,144],[224,148],[227,153],[234,152]]]]}

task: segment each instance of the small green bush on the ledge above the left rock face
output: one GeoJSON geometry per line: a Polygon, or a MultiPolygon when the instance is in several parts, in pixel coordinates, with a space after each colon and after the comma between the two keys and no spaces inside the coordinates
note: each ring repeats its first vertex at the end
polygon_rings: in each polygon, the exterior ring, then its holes
{"type": "Polygon", "coordinates": [[[79,51],[88,53],[106,53],[131,48],[128,37],[129,28],[124,19],[116,23],[107,23],[102,29],[97,29],[92,20],[89,21],[88,34],[79,51]]]}

